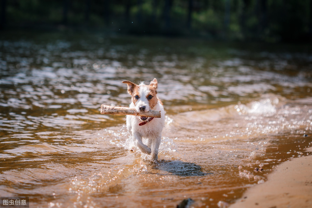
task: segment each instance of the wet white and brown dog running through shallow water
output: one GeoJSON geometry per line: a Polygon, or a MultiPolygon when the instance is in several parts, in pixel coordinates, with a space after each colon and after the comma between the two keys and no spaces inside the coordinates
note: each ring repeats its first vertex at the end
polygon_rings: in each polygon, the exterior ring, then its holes
{"type": "Polygon", "coordinates": [[[160,111],[161,118],[142,117],[127,115],[126,123],[130,136],[134,138],[137,148],[146,154],[152,156],[153,160],[158,159],[158,148],[161,142],[161,132],[165,123],[165,110],[163,103],[157,96],[158,82],[156,78],[145,85],[141,82],[136,85],[130,81],[123,81],[128,85],[128,93],[131,95],[130,108],[135,108],[137,111],[148,112],[149,110],[160,111]],[[142,138],[147,138],[148,142],[145,145],[142,138]]]}

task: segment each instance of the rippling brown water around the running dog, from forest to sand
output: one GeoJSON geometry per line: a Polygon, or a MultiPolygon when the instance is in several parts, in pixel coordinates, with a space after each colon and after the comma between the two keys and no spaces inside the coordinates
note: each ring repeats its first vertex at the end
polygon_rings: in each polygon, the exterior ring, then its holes
{"type": "Polygon", "coordinates": [[[162,38],[0,41],[0,196],[31,207],[227,207],[312,140],[312,52],[162,38]],[[158,162],[129,152],[123,80],[158,79],[158,162]],[[255,171],[255,168],[258,168],[255,171]]]}

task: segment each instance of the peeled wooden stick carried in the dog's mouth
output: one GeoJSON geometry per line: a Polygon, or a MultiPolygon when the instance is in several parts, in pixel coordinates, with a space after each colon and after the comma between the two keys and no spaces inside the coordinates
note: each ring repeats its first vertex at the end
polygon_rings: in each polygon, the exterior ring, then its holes
{"type": "Polygon", "coordinates": [[[160,118],[160,111],[150,110],[149,112],[138,112],[134,108],[115,107],[110,105],[101,105],[101,114],[114,114],[114,115],[135,115],[160,118]]]}

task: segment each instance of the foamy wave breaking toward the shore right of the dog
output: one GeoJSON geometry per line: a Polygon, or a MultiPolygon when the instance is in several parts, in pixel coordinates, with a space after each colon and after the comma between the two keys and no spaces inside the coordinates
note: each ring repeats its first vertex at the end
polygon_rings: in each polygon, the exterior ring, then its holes
{"type": "MultiPolygon", "coordinates": [[[[264,94],[256,100],[216,109],[189,111],[170,116],[168,134],[180,140],[215,141],[252,139],[285,131],[311,130],[312,105],[305,98],[288,100],[275,94],[264,94]]],[[[170,137],[169,136],[169,137],[170,137]]]]}

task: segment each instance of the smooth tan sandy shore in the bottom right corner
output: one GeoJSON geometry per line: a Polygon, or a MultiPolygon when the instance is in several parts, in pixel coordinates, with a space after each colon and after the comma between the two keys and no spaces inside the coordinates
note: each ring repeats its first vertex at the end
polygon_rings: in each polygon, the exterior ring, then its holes
{"type": "MultiPolygon", "coordinates": [[[[312,148],[307,151],[311,152],[312,148]]],[[[275,168],[230,208],[312,207],[312,156],[297,157],[275,168]]]]}

